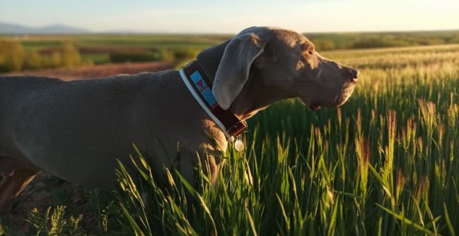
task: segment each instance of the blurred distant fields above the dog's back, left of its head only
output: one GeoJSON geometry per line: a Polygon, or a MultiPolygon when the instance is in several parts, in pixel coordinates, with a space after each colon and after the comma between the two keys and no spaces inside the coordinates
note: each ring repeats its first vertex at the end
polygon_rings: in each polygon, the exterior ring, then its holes
{"type": "Polygon", "coordinates": [[[111,62],[183,62],[231,35],[0,35],[0,73],[111,62]]]}

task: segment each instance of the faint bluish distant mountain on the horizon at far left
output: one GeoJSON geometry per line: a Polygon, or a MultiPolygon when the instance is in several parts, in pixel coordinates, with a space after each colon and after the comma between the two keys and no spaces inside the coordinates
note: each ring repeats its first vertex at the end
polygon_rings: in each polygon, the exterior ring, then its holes
{"type": "Polygon", "coordinates": [[[52,24],[49,26],[42,27],[31,27],[24,26],[21,24],[12,24],[6,22],[0,22],[0,34],[73,34],[73,33],[92,33],[85,28],[77,28],[72,26],[66,26],[63,24],[52,24]]]}

